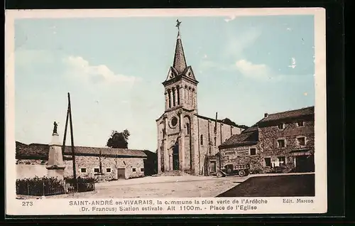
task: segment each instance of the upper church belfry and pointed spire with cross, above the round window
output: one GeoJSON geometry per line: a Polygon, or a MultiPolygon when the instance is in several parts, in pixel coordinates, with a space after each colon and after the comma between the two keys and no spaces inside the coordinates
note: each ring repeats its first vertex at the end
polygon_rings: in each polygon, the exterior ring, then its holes
{"type": "Polygon", "coordinates": [[[187,66],[180,36],[180,21],[177,21],[178,37],[176,38],[173,66],[163,82],[165,87],[165,112],[175,109],[186,109],[197,113],[197,80],[191,66],[187,66]]]}

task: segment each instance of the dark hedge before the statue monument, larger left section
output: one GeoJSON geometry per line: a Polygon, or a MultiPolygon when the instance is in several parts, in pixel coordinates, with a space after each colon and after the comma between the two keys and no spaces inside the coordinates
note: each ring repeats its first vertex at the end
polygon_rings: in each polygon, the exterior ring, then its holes
{"type": "Polygon", "coordinates": [[[16,180],[17,195],[59,195],[64,193],[64,181],[58,178],[35,177],[16,180]]]}

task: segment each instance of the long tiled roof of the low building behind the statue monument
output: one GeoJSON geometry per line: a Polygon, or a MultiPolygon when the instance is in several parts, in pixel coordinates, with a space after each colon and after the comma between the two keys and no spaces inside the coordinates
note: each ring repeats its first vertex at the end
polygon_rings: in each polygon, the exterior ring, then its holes
{"type": "MultiPolygon", "coordinates": [[[[48,158],[48,144],[23,144],[16,141],[16,158],[48,158]]],[[[71,155],[71,146],[65,146],[64,155],[71,155]]],[[[146,158],[146,154],[141,150],[133,149],[109,149],[88,146],[75,146],[76,156],[107,156],[107,157],[131,157],[146,158]]]]}

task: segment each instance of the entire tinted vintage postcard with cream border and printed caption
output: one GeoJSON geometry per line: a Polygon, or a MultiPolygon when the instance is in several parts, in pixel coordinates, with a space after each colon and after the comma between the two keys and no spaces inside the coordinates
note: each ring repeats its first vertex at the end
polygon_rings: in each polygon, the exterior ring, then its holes
{"type": "Polygon", "coordinates": [[[327,212],[325,10],[6,11],[6,214],[327,212]]]}

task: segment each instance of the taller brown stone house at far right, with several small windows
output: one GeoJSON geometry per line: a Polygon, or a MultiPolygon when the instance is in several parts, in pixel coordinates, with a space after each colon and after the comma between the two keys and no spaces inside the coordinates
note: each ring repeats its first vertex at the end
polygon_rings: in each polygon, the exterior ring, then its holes
{"type": "Polygon", "coordinates": [[[315,169],[315,107],[265,114],[258,123],[263,167],[315,169]]]}

